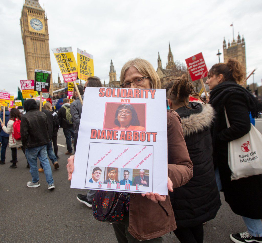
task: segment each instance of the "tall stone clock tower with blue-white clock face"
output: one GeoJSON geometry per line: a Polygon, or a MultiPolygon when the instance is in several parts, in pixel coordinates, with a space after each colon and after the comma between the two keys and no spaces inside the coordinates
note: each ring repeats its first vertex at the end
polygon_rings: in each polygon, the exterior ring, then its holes
{"type": "MultiPolygon", "coordinates": [[[[35,69],[51,71],[47,17],[38,0],[25,0],[20,25],[27,79],[34,79],[35,69]]],[[[52,75],[50,94],[53,95],[52,75]]]]}

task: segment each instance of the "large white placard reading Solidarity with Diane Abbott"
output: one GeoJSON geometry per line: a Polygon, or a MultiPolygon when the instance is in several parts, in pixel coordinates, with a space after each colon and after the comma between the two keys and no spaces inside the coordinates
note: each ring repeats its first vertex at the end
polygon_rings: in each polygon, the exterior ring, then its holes
{"type": "Polygon", "coordinates": [[[90,88],[71,187],[167,195],[166,91],[90,88]]]}

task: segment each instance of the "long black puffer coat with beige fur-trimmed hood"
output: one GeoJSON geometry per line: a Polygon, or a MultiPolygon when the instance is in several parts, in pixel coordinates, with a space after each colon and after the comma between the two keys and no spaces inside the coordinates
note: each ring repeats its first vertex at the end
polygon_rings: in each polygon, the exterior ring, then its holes
{"type": "Polygon", "coordinates": [[[209,130],[214,109],[199,102],[189,102],[188,106],[192,109],[184,106],[176,110],[182,120],[185,142],[193,162],[193,177],[170,193],[177,228],[194,227],[215,218],[221,205],[209,130]]]}

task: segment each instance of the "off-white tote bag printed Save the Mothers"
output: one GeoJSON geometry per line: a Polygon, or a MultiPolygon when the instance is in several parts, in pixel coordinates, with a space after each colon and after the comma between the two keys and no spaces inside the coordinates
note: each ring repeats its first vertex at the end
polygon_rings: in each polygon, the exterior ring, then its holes
{"type": "MultiPolygon", "coordinates": [[[[227,127],[230,127],[226,109],[227,127]]],[[[248,134],[228,142],[228,165],[231,169],[231,180],[262,174],[262,135],[251,125],[248,134]]]]}

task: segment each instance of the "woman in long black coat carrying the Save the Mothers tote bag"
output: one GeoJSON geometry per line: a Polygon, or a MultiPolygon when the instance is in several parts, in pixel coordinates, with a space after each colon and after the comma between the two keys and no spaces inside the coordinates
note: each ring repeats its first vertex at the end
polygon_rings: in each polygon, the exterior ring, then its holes
{"type": "Polygon", "coordinates": [[[240,84],[245,68],[237,60],[217,63],[208,72],[210,101],[216,118],[212,127],[213,160],[219,190],[232,211],[243,217],[247,231],[231,234],[233,242],[262,242],[262,175],[231,180],[228,166],[228,142],[250,131],[249,112],[253,117],[262,110],[261,103],[240,84]],[[227,128],[225,112],[230,123],[227,128]]]}

